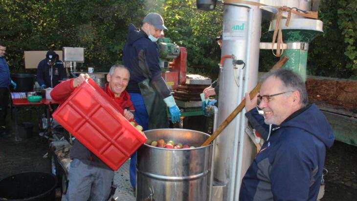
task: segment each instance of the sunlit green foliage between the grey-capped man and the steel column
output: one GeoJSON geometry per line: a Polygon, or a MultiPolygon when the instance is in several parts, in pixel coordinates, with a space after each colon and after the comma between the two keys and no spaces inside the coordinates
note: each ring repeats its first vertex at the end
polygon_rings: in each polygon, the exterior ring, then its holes
{"type": "Polygon", "coordinates": [[[201,11],[192,0],[168,0],[163,4],[167,36],[187,49],[188,70],[216,78],[221,51],[215,38],[222,29],[223,5],[201,11]]]}

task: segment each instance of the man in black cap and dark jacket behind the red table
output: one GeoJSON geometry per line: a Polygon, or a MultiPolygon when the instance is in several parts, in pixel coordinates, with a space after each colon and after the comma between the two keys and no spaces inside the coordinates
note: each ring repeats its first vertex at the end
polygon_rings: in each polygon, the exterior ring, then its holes
{"type": "Polygon", "coordinates": [[[37,67],[37,82],[41,89],[53,88],[60,83],[60,80],[67,79],[63,62],[58,58],[56,52],[49,50],[46,53],[46,58],[40,61],[37,67]]]}

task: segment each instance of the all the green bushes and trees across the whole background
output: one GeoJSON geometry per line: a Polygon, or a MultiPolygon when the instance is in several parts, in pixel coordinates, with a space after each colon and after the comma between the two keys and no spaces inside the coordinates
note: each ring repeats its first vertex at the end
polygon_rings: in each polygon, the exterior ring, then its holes
{"type": "MultiPolygon", "coordinates": [[[[7,44],[7,61],[12,73],[25,70],[23,51],[86,48],[85,63],[107,72],[121,63],[122,48],[130,23],[140,27],[148,12],[160,13],[165,32],[188,52],[188,72],[218,75],[220,50],[214,38],[222,29],[223,5],[201,11],[195,0],[0,0],[0,40],[7,44]]],[[[357,75],[357,1],[322,0],[319,19],[324,33],[309,45],[308,74],[340,78],[357,75]]],[[[270,42],[269,22],[262,23],[261,41],[270,42]]],[[[259,70],[266,71],[278,60],[261,50],[259,70]]]]}

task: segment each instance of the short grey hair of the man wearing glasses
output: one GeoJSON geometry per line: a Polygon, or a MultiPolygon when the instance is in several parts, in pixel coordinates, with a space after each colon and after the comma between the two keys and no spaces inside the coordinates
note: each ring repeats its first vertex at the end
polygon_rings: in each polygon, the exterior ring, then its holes
{"type": "Polygon", "coordinates": [[[264,83],[269,77],[274,76],[283,82],[283,87],[291,91],[299,91],[301,107],[305,107],[309,103],[308,92],[305,82],[301,76],[294,73],[290,69],[279,69],[270,71],[261,78],[261,83],[264,83]]]}

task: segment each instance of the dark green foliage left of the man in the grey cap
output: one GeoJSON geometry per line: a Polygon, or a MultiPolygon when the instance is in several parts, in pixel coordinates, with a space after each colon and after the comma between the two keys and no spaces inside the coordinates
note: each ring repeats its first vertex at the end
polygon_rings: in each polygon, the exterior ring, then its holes
{"type": "Polygon", "coordinates": [[[0,2],[0,40],[7,43],[11,72],[25,71],[24,50],[62,47],[86,48],[84,67],[108,71],[121,61],[129,23],[140,22],[145,14],[144,0],[0,2]]]}

